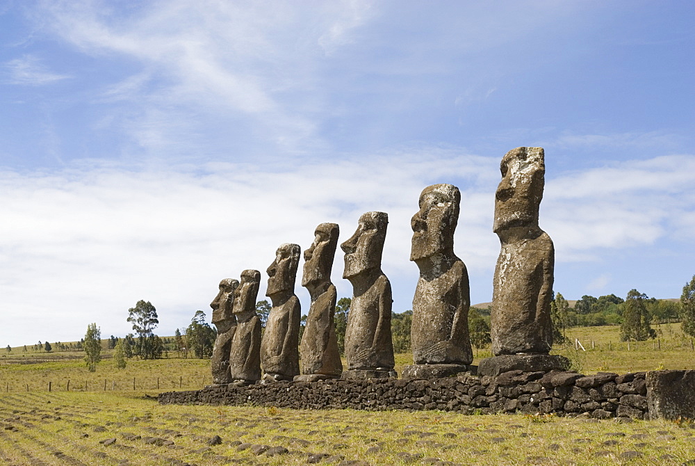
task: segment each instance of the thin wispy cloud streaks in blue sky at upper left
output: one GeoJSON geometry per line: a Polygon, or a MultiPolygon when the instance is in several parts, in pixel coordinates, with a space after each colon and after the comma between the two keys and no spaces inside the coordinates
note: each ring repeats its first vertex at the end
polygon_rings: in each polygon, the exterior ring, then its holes
{"type": "Polygon", "coordinates": [[[149,128],[145,138],[141,131],[131,136],[139,144],[154,141],[145,149],[155,153],[158,141],[175,147],[199,131],[192,113],[207,126],[226,120],[246,138],[252,133],[270,143],[268,149],[292,152],[320,143],[313,117],[327,103],[320,93],[309,95],[316,68],[371,17],[369,3],[357,0],[318,7],[173,0],[133,8],[126,17],[100,1],[44,3],[43,11],[47,27],[72,47],[140,63],[134,74],[108,85],[104,99],[129,101],[122,119],[134,124],[122,129],[149,128]],[[180,131],[175,118],[188,130],[180,131]]]}

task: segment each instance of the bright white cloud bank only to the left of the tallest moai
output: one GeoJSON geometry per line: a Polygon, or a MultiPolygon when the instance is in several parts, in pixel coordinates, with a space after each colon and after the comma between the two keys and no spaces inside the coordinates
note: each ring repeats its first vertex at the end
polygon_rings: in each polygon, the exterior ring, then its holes
{"type": "MultiPolygon", "coordinates": [[[[277,172],[234,163],[191,171],[4,172],[0,307],[17,325],[0,340],[67,340],[92,321],[105,334],[122,335],[129,331],[124,312],[139,299],[152,301],[161,327],[173,331],[188,314],[207,311],[221,278],[245,268],[264,271],[280,243],[306,248],[318,223],[340,224],[347,238],[370,210],[386,211],[391,220],[384,269],[394,278],[416,278],[409,224],[420,190],[446,172],[475,185],[482,173],[475,167],[486,163],[460,154],[437,161],[398,154],[277,172]]],[[[470,234],[486,215],[464,211],[472,225],[459,230],[470,234]]],[[[336,257],[334,278],[349,295],[336,257]]],[[[410,299],[402,298],[404,309],[410,299]]]]}

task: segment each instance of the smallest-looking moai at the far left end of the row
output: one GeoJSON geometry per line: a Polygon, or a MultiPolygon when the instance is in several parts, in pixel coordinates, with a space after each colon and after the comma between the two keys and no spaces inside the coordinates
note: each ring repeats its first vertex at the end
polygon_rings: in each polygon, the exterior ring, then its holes
{"type": "Polygon", "coordinates": [[[213,324],[217,327],[218,336],[211,357],[213,383],[230,383],[229,352],[231,340],[236,330],[236,316],[232,312],[234,305],[234,290],[239,286],[238,280],[225,278],[220,282],[220,292],[210,303],[213,309],[213,324]]]}

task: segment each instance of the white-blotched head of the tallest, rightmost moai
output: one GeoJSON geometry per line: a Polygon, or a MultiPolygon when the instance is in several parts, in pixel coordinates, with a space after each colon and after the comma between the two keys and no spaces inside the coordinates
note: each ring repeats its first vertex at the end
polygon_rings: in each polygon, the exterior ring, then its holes
{"type": "Polygon", "coordinates": [[[538,227],[546,164],[542,147],[516,147],[502,157],[502,181],[495,194],[496,233],[514,227],[538,227]]]}

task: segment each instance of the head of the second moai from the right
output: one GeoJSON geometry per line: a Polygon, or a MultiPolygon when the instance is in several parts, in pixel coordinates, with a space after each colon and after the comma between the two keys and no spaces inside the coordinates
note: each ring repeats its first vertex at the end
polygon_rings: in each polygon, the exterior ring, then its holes
{"type": "Polygon", "coordinates": [[[433,184],[420,194],[420,210],[411,220],[410,260],[454,251],[454,231],[459,220],[461,193],[452,184],[433,184]]]}

